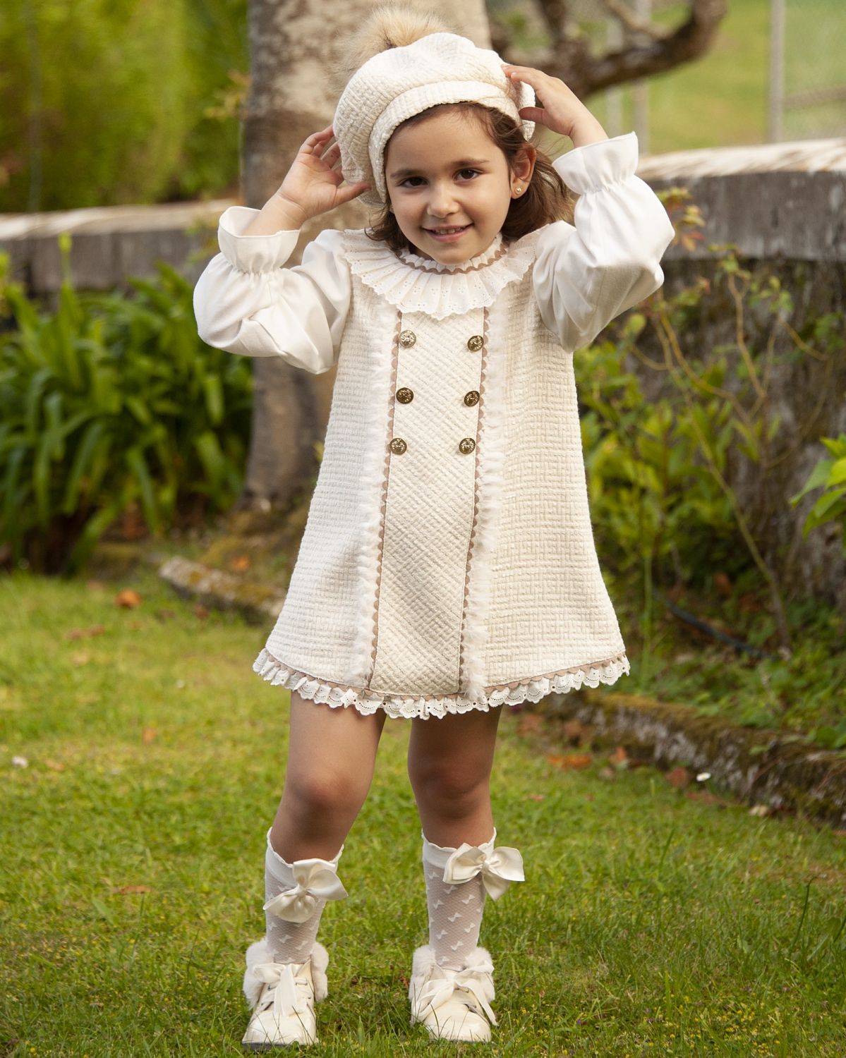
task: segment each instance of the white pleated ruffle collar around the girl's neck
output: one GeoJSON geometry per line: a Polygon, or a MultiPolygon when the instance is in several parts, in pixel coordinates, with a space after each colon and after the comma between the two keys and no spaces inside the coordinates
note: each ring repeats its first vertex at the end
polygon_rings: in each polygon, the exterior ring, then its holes
{"type": "Polygon", "coordinates": [[[541,231],[511,243],[498,235],[487,250],[461,264],[442,264],[407,250],[395,254],[363,231],[344,232],[344,242],[349,270],[365,286],[402,312],[443,320],[492,305],[509,282],[522,279],[541,231]]]}

